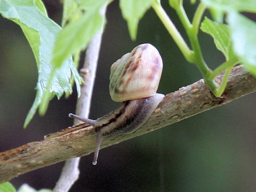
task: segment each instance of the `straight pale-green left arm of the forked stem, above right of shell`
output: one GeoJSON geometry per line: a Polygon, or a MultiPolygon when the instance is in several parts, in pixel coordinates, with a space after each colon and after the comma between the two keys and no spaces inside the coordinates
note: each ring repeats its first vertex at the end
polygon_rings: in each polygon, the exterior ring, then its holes
{"type": "Polygon", "coordinates": [[[191,51],[189,49],[188,45],[186,44],[186,42],[184,41],[184,39],[180,35],[178,29],[174,26],[174,24],[171,21],[171,19],[168,17],[166,12],[164,11],[164,9],[161,6],[161,4],[153,1],[152,7],[155,10],[155,12],[156,12],[157,16],[159,17],[159,19],[163,22],[163,24],[164,24],[165,28],[167,29],[167,31],[172,36],[174,42],[178,45],[178,47],[179,47],[180,51],[182,52],[182,54],[184,55],[184,57],[189,62],[193,62],[193,51],[191,51]]]}

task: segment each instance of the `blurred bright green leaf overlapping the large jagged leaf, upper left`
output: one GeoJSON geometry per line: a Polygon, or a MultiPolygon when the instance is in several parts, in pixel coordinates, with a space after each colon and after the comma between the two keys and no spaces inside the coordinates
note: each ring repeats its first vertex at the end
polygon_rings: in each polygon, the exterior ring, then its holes
{"type": "Polygon", "coordinates": [[[61,66],[70,54],[85,49],[91,38],[103,28],[104,24],[105,15],[100,13],[100,9],[93,12],[87,11],[81,18],[68,23],[57,36],[52,62],[56,66],[61,66]]]}

